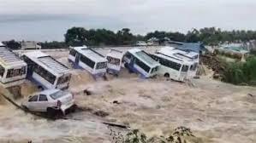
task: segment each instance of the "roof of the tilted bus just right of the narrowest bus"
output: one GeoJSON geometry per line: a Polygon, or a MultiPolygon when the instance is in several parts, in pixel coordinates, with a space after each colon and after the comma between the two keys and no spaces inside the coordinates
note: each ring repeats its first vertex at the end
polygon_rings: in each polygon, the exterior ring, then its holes
{"type": "Polygon", "coordinates": [[[129,49],[128,52],[131,54],[134,54],[136,58],[145,61],[147,66],[151,66],[151,67],[160,66],[158,61],[153,60],[152,57],[142,49],[129,49]]]}

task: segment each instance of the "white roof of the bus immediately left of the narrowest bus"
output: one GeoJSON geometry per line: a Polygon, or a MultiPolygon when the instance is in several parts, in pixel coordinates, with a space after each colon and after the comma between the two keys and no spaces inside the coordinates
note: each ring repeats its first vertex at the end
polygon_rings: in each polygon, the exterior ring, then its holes
{"type": "Polygon", "coordinates": [[[96,62],[106,62],[107,61],[102,54],[99,54],[95,50],[87,48],[86,46],[74,47],[73,49],[76,50],[77,52],[79,52],[80,54],[85,55],[87,58],[94,60],[96,62]]]}

